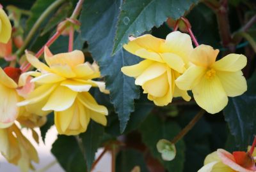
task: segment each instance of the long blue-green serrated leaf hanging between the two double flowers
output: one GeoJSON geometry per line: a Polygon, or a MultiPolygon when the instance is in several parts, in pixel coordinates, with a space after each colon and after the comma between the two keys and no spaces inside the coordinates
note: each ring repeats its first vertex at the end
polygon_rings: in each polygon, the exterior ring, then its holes
{"type": "Polygon", "coordinates": [[[120,120],[123,132],[129,115],[134,111],[134,99],[140,96],[134,78],[125,76],[120,68],[138,63],[138,57],[124,50],[111,57],[116,22],[120,10],[120,0],[88,0],[81,12],[81,36],[87,41],[89,51],[100,66],[100,73],[106,76],[106,86],[110,90],[110,100],[120,120]]]}

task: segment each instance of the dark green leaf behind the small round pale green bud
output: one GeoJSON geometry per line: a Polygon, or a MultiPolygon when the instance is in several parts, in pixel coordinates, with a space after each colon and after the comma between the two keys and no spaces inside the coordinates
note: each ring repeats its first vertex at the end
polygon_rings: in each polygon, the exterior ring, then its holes
{"type": "Polygon", "coordinates": [[[172,138],[178,134],[180,127],[176,122],[165,121],[157,115],[149,115],[140,127],[143,143],[149,148],[153,157],[156,157],[164,168],[172,172],[182,172],[184,168],[185,160],[185,144],[183,140],[180,140],[175,144],[177,154],[173,161],[163,161],[161,154],[157,151],[157,142],[161,139],[172,140],[172,138]]]}

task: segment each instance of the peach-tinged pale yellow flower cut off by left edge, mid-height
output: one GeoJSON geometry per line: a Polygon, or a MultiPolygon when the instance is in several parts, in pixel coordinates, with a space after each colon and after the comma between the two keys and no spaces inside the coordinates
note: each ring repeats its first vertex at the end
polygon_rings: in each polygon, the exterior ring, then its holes
{"type": "Polygon", "coordinates": [[[0,128],[9,127],[19,115],[18,85],[0,68],[0,128]]]}

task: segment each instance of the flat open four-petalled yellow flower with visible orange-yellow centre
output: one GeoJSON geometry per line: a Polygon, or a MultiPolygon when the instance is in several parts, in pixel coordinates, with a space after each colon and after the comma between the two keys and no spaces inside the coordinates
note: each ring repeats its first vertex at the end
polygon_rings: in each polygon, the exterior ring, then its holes
{"type": "Polygon", "coordinates": [[[219,50],[207,45],[196,47],[189,60],[193,63],[175,81],[181,90],[192,90],[196,103],[209,113],[218,113],[235,97],[247,90],[241,69],[247,59],[241,54],[228,54],[219,61],[219,50]]]}

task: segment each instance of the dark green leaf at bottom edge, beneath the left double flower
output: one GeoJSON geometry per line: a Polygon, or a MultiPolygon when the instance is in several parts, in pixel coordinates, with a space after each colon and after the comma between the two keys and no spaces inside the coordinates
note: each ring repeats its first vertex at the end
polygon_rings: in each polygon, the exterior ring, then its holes
{"type": "Polygon", "coordinates": [[[51,152],[65,171],[87,171],[84,156],[74,136],[58,135],[51,152]]]}

